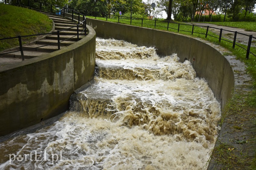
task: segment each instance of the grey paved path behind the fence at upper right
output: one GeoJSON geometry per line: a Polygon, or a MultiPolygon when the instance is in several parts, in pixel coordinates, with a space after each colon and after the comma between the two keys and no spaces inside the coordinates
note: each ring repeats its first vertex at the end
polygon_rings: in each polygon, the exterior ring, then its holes
{"type": "MultiPolygon", "coordinates": [[[[222,31],[222,37],[223,38],[227,38],[229,40],[231,40],[233,42],[234,40],[234,32],[240,32],[243,34],[247,34],[247,35],[252,35],[253,37],[256,37],[256,32],[253,31],[245,31],[244,29],[240,29],[240,28],[234,28],[234,27],[228,27],[228,26],[221,26],[221,25],[213,25],[213,24],[208,24],[208,23],[190,23],[190,24],[194,24],[197,26],[204,26],[203,28],[207,28],[207,26],[213,27],[213,28],[209,28],[209,31],[214,32],[218,35],[220,35],[220,29],[222,28],[223,30],[229,30],[229,31],[233,31],[233,32],[228,32],[228,31],[222,31]]],[[[244,45],[248,45],[248,40],[249,40],[249,36],[245,36],[242,34],[237,33],[236,35],[236,42],[237,43],[241,43],[244,45]]],[[[252,38],[252,45],[251,46],[256,46],[256,39],[252,38]]]]}

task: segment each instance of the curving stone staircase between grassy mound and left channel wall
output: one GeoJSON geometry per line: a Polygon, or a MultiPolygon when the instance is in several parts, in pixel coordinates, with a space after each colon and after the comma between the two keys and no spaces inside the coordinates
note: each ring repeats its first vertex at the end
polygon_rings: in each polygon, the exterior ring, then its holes
{"type": "MultiPolygon", "coordinates": [[[[42,12],[43,13],[43,12],[42,12]]],[[[44,13],[49,18],[51,18],[55,24],[53,32],[60,31],[63,29],[67,29],[73,26],[76,26],[77,23],[72,22],[71,20],[64,19],[62,16],[56,16],[51,15],[48,13],[44,13]]],[[[79,25],[79,33],[83,31],[83,26],[79,25]]],[[[79,34],[79,39],[82,39],[85,37],[85,33],[79,34]]],[[[60,49],[63,46],[69,46],[77,41],[77,27],[70,28],[65,31],[60,31],[60,49]]],[[[32,43],[23,45],[23,53],[24,53],[24,59],[31,59],[43,54],[51,53],[53,51],[58,50],[58,35],[57,33],[52,33],[47,36],[44,36],[44,38],[36,40],[32,43]],[[44,46],[48,45],[48,46],[44,46]],[[40,47],[43,46],[43,47],[40,47]]],[[[16,49],[17,50],[17,49],[16,49]]],[[[15,53],[9,53],[1,55],[2,58],[20,58],[21,60],[21,53],[15,52],[15,53]]]]}

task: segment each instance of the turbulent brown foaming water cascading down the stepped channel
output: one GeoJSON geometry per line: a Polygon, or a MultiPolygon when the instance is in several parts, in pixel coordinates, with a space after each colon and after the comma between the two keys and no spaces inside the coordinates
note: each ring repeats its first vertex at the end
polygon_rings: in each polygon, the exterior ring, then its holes
{"type": "Polygon", "coordinates": [[[190,62],[96,40],[94,83],[53,125],[2,142],[0,169],[206,168],[220,105],[190,62]]]}

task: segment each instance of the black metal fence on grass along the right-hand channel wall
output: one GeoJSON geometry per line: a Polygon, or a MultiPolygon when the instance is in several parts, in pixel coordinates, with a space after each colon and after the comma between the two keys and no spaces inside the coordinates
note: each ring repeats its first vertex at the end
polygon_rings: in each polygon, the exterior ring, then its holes
{"type": "MultiPolygon", "coordinates": [[[[165,28],[166,30],[169,30],[169,29],[172,29],[172,30],[176,30],[177,32],[180,32],[180,31],[183,31],[183,32],[191,32],[191,35],[197,33],[197,34],[203,34],[205,35],[205,38],[207,38],[207,36],[211,36],[211,37],[214,37],[216,39],[219,39],[219,42],[221,40],[223,41],[227,41],[229,43],[232,44],[232,47],[233,49],[238,46],[242,49],[244,49],[246,51],[246,59],[249,58],[249,54],[252,54],[253,56],[256,56],[256,54],[252,53],[251,51],[251,45],[252,45],[252,42],[256,40],[256,37],[252,36],[252,35],[247,35],[247,34],[244,34],[244,33],[240,33],[240,32],[237,32],[237,31],[230,31],[230,30],[225,30],[225,29],[220,29],[220,28],[215,28],[215,27],[211,27],[211,26],[204,26],[204,25],[191,25],[191,24],[180,24],[180,23],[175,23],[175,22],[171,22],[171,21],[161,21],[161,20],[153,20],[154,21],[154,24],[148,24],[148,23],[145,23],[146,20],[150,20],[150,19],[146,19],[146,18],[132,18],[132,17],[125,17],[125,16],[120,16],[120,15],[113,15],[113,14],[106,14],[106,13],[97,13],[97,12],[91,12],[91,11],[85,11],[85,14],[87,16],[92,16],[92,17],[95,17],[95,19],[97,17],[102,17],[102,18],[106,18],[106,21],[108,21],[108,19],[112,19],[112,20],[116,20],[117,23],[120,23],[120,21],[122,21],[123,23],[127,23],[127,24],[130,24],[132,25],[132,23],[134,24],[137,24],[137,25],[150,25],[150,26],[153,26],[154,28],[156,27],[162,27],[162,28],[165,28]],[[143,22],[144,21],[144,22],[143,22]],[[163,26],[163,25],[157,25],[157,23],[165,23],[165,25],[167,26],[163,26]],[[177,27],[170,27],[170,24],[175,24],[177,25],[177,27]],[[182,30],[180,29],[180,25],[187,25],[187,26],[191,26],[191,30],[188,31],[188,30],[182,30]],[[198,26],[198,27],[204,27],[206,29],[206,32],[205,33],[201,33],[201,32],[195,32],[194,31],[194,27],[195,26],[198,26]],[[213,28],[213,29],[217,29],[217,30],[220,30],[220,33],[219,33],[219,36],[216,37],[216,36],[213,36],[211,34],[209,34],[209,28],[213,28]],[[226,31],[226,32],[230,32],[230,33],[234,33],[234,38],[233,38],[233,41],[232,40],[228,40],[228,39],[223,39],[222,38],[222,35],[223,35],[223,31],[226,31]],[[247,48],[241,46],[241,44],[238,44],[236,42],[236,38],[237,38],[237,35],[240,34],[240,35],[243,35],[243,36],[246,36],[248,37],[248,43],[246,43],[247,45],[247,48]]],[[[151,20],[152,21],[152,20],[151,20]]]]}

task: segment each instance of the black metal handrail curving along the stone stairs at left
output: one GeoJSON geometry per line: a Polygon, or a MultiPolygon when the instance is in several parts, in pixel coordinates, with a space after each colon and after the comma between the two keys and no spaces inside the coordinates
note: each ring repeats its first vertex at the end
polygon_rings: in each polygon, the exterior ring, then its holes
{"type": "MultiPolygon", "coordinates": [[[[20,50],[16,50],[16,51],[9,51],[9,52],[2,52],[0,53],[0,55],[4,55],[4,54],[8,54],[8,53],[16,53],[16,52],[19,52],[21,53],[21,59],[24,60],[24,54],[23,54],[23,51],[25,50],[30,50],[30,49],[35,49],[35,48],[39,48],[39,47],[44,47],[44,46],[50,46],[50,45],[54,45],[54,44],[58,44],[58,49],[60,49],[60,43],[63,42],[63,41],[67,41],[68,39],[71,39],[71,38],[74,38],[74,37],[77,37],[77,41],[79,41],[79,35],[82,34],[84,32],[84,35],[86,36],[86,18],[85,18],[85,15],[77,12],[77,11],[74,11],[73,9],[69,9],[69,8],[65,8],[65,7],[61,7],[62,9],[59,9],[58,11],[57,10],[54,10],[54,8],[56,7],[60,7],[58,5],[52,5],[52,4],[46,4],[46,3],[42,3],[42,2],[34,2],[34,1],[30,1],[30,0],[24,0],[24,1],[19,1],[17,0],[17,4],[16,3],[7,3],[7,0],[5,0],[5,4],[11,4],[11,5],[20,5],[20,6],[25,6],[25,7],[29,7],[31,9],[36,9],[36,10],[39,10],[40,12],[42,11],[42,5],[44,5],[44,9],[46,9],[45,7],[50,6],[50,8],[48,8],[48,10],[46,10],[45,12],[49,12],[49,13],[55,13],[55,12],[58,12],[58,14],[60,15],[63,15],[63,17],[65,17],[65,13],[67,13],[68,10],[71,10],[72,11],[72,21],[74,21],[74,17],[76,17],[74,15],[74,12],[75,13],[78,13],[78,18],[77,18],[77,21],[78,21],[78,24],[76,26],[72,26],[72,27],[69,27],[69,28],[66,28],[66,29],[62,29],[62,30],[58,30],[58,31],[55,31],[55,32],[50,32],[50,33],[41,33],[41,34],[33,34],[33,35],[23,35],[23,36],[17,36],[17,37],[9,37],[9,38],[2,38],[0,39],[1,40],[6,40],[6,39],[17,39],[19,40],[19,48],[20,50]],[[28,6],[25,5],[25,2],[28,2],[28,6]],[[32,3],[30,3],[32,2],[32,3]],[[36,9],[35,6],[32,6],[31,4],[34,4],[34,3],[39,3],[39,9],[36,9]],[[54,7],[54,8],[53,8],[54,7]],[[83,21],[80,22],[80,15],[83,16],[83,21]],[[82,32],[79,32],[79,26],[80,25],[83,25],[83,31],[82,32]],[[61,31],[66,31],[66,30],[69,30],[71,28],[77,28],[77,34],[73,37],[70,37],[70,38],[67,38],[67,39],[64,39],[62,41],[60,41],[60,32],[61,31]],[[23,49],[23,46],[22,46],[22,38],[24,37],[32,37],[32,36],[40,36],[40,35],[49,35],[49,34],[56,34],[57,33],[57,42],[56,43],[51,43],[51,44],[47,44],[47,45],[43,45],[43,46],[36,46],[36,47],[32,47],[32,48],[27,48],[27,49],[23,49]]],[[[6,51],[6,50],[5,50],[6,51]]]]}

